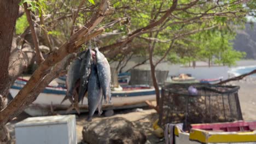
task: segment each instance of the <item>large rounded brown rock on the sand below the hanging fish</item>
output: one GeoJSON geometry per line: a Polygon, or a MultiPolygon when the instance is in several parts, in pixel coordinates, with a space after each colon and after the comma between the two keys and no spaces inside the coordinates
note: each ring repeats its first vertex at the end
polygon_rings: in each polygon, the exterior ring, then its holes
{"type": "Polygon", "coordinates": [[[88,143],[126,144],[145,143],[146,136],[125,118],[114,117],[87,123],[82,131],[88,143]]]}

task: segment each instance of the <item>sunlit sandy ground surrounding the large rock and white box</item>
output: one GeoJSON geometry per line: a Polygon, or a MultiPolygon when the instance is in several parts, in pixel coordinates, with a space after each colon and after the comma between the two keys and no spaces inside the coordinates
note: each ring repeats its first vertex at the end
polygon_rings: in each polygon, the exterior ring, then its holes
{"type": "MultiPolygon", "coordinates": [[[[22,121],[23,119],[30,117],[25,112],[21,113],[16,119],[11,121],[7,124],[11,137],[12,137],[12,143],[15,143],[15,131],[14,131],[14,124],[22,121]]],[[[148,109],[147,107],[142,107],[138,109],[127,109],[127,110],[118,110],[115,111],[114,115],[111,117],[123,117],[131,121],[136,128],[139,130],[144,131],[145,135],[147,136],[147,144],[150,143],[163,143],[161,139],[158,139],[158,137],[153,135],[153,125],[152,123],[158,119],[158,115],[156,114],[156,111],[153,109],[148,109]]],[[[95,115],[95,117],[92,119],[92,121],[96,121],[98,119],[102,118],[111,118],[111,117],[104,117],[104,115],[98,117],[95,115]]],[[[77,121],[77,140],[78,143],[83,143],[82,139],[82,130],[83,126],[86,123],[87,113],[83,113],[82,115],[76,116],[77,121]]]]}

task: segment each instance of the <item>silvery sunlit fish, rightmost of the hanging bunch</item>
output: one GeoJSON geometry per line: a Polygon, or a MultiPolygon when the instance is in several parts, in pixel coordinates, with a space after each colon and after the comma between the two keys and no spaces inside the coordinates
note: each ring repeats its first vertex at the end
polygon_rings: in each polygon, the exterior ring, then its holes
{"type": "Polygon", "coordinates": [[[105,103],[110,103],[111,100],[111,73],[110,73],[110,65],[108,63],[107,58],[98,51],[96,47],[96,62],[97,62],[97,74],[98,79],[100,80],[100,85],[103,91],[103,96],[105,103]]]}

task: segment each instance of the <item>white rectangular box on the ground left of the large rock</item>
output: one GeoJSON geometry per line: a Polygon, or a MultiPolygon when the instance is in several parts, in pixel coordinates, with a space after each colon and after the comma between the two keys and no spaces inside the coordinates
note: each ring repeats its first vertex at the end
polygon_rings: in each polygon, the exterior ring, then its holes
{"type": "Polygon", "coordinates": [[[15,124],[17,144],[77,143],[75,115],[30,117],[15,124]]]}

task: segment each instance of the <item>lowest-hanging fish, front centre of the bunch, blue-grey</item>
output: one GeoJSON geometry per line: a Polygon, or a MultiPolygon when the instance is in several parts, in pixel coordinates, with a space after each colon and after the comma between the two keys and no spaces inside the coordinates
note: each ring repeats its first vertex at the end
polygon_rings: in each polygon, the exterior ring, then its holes
{"type": "Polygon", "coordinates": [[[92,116],[96,111],[97,107],[101,111],[101,102],[102,102],[102,89],[100,86],[100,81],[97,75],[97,67],[94,63],[91,64],[91,74],[88,83],[88,109],[89,116],[87,121],[92,120],[92,116]]]}

